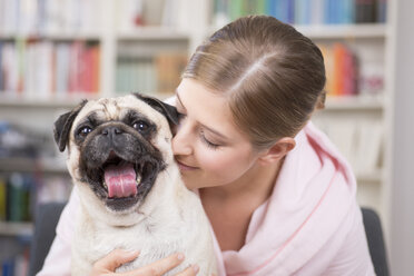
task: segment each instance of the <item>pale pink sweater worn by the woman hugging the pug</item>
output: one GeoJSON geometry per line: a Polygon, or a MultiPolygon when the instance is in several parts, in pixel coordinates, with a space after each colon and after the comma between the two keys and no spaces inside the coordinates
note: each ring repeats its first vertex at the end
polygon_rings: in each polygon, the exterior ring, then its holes
{"type": "MultiPolygon", "coordinates": [[[[312,122],[295,139],[273,195],[253,214],[243,248],[221,252],[215,239],[219,276],[375,275],[349,165],[312,122]]],[[[70,275],[78,205],[75,190],[39,276],[70,275]]]]}

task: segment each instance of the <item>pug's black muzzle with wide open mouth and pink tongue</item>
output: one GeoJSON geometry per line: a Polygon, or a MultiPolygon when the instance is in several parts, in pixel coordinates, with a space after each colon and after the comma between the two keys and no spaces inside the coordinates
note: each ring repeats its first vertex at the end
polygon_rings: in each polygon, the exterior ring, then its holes
{"type": "Polygon", "coordinates": [[[161,154],[146,137],[152,126],[141,122],[135,127],[138,129],[109,121],[93,130],[80,126],[76,131],[80,180],[114,210],[144,200],[165,168],[161,154]]]}

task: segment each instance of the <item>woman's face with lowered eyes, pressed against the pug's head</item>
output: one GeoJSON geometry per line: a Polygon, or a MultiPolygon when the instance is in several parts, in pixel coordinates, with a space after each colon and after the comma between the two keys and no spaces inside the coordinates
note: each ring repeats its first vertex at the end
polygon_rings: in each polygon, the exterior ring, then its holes
{"type": "Polygon", "coordinates": [[[226,98],[194,79],[183,79],[176,96],[183,118],[172,150],[186,186],[221,186],[248,174],[259,154],[233,124],[226,98]]]}

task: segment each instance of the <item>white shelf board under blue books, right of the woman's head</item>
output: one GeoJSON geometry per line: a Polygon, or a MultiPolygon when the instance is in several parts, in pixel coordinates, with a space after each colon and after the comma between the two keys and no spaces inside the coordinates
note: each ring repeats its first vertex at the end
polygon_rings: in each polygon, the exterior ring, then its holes
{"type": "Polygon", "coordinates": [[[295,26],[310,39],[385,38],[387,27],[379,23],[295,26]]]}

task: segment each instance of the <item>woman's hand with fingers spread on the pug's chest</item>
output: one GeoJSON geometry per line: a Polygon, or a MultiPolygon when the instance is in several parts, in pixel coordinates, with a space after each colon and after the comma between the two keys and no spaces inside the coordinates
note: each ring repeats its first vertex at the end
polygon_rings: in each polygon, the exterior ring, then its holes
{"type": "MultiPolygon", "coordinates": [[[[121,249],[115,249],[103,258],[95,263],[92,272],[89,276],[161,276],[165,273],[177,267],[184,260],[184,255],[172,254],[164,259],[157,260],[145,267],[127,272],[127,273],[115,273],[115,269],[122,264],[129,263],[139,256],[139,252],[126,252],[121,249]]],[[[198,273],[198,266],[193,265],[187,267],[176,276],[195,276],[198,273]]]]}

